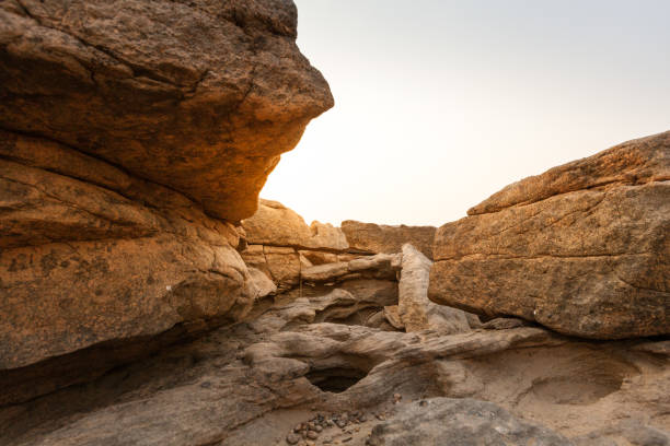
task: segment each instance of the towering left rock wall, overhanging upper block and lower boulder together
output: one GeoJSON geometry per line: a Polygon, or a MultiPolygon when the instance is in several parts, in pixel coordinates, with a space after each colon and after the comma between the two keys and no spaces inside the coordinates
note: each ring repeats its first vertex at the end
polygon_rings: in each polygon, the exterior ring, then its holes
{"type": "Polygon", "coordinates": [[[0,3],[0,403],[42,361],[249,309],[234,224],[333,105],[296,22],[290,1],[0,3]]]}

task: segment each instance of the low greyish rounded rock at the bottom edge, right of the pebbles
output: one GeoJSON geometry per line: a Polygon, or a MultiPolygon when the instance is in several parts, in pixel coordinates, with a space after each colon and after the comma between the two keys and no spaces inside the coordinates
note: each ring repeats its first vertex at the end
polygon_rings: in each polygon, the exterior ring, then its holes
{"type": "Polygon", "coordinates": [[[534,444],[571,446],[561,434],[474,399],[432,398],[404,406],[372,430],[371,446],[432,446],[449,438],[453,446],[534,444]]]}

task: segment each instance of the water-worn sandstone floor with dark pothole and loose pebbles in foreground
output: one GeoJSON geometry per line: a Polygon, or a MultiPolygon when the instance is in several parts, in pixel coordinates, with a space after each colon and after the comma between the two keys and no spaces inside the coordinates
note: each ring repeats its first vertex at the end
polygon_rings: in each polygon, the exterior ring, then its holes
{"type": "Polygon", "coordinates": [[[587,442],[670,427],[663,342],[590,344],[536,327],[405,333],[349,319],[388,302],[336,292],[278,304],[89,385],[0,408],[0,443],[362,446],[466,425],[471,441],[587,442]],[[415,414],[423,424],[394,427],[415,414]]]}

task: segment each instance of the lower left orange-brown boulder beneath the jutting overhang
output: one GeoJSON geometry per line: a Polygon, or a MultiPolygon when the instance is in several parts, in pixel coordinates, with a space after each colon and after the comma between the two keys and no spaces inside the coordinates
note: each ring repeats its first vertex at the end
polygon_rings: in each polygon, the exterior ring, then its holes
{"type": "Polygon", "coordinates": [[[0,161],[0,369],[249,309],[256,291],[231,226],[155,185],[128,179],[136,196],[160,192],[162,209],[46,163],[0,161]]]}

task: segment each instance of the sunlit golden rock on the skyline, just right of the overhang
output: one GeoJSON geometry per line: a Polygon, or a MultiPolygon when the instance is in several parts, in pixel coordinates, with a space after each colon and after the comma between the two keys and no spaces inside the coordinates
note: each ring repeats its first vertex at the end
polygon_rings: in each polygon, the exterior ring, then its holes
{"type": "Polygon", "coordinates": [[[242,222],[249,243],[310,249],[347,249],[347,239],[337,227],[313,222],[311,226],[277,201],[261,200],[256,213],[242,222]]]}

